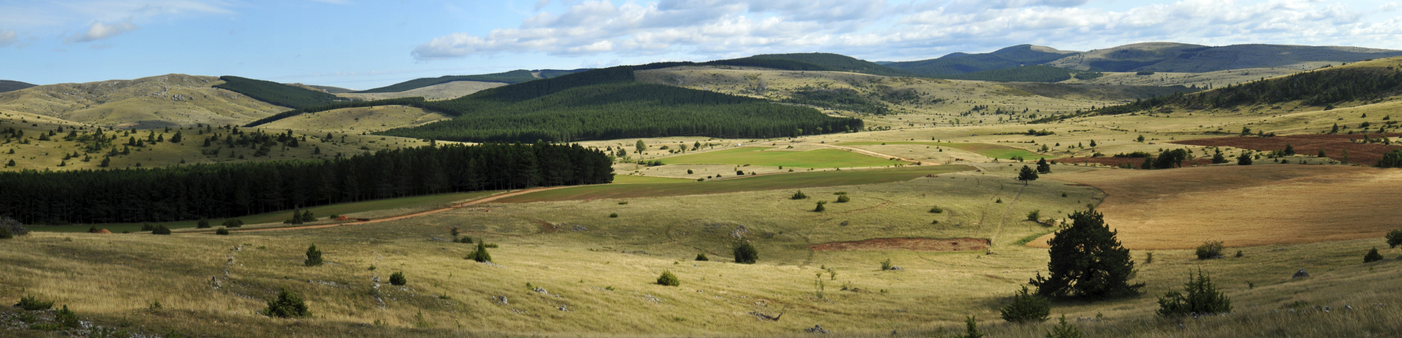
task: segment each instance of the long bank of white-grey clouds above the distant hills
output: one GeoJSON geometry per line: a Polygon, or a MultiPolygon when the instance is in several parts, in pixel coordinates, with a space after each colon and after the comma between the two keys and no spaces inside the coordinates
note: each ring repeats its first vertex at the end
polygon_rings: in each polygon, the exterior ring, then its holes
{"type": "MultiPolygon", "coordinates": [[[[550,0],[540,0],[537,11],[550,0]]],[[[1179,0],[1126,10],[1089,0],[659,0],[565,1],[516,28],[454,32],[416,46],[418,60],[495,53],[695,59],[775,52],[836,52],[868,59],[928,59],[1036,43],[1061,49],[1169,41],[1203,45],[1338,45],[1396,41],[1396,20],[1363,22],[1335,0],[1179,0]]],[[[1381,10],[1394,10],[1396,3],[1381,10]]],[[[1364,8],[1373,10],[1373,8],[1364,8]]]]}

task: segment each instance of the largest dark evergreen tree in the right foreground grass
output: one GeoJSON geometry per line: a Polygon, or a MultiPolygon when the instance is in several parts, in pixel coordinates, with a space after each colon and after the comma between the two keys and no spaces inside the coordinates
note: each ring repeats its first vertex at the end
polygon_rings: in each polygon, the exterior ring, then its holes
{"type": "Polygon", "coordinates": [[[1116,239],[1105,216],[1095,210],[1071,214],[1071,225],[1063,226],[1047,243],[1052,260],[1049,277],[1033,278],[1029,284],[1037,295],[1047,297],[1103,299],[1138,295],[1144,284],[1129,284],[1134,277],[1130,250],[1116,239]]]}

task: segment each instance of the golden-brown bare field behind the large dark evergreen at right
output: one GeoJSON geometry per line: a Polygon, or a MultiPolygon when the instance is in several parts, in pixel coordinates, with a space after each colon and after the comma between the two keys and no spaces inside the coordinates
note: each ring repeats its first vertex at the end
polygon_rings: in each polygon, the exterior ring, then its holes
{"type": "MultiPolygon", "coordinates": [[[[1202,166],[1057,176],[1109,197],[1105,222],[1129,249],[1228,247],[1377,237],[1399,228],[1402,170],[1364,166],[1202,166]]],[[[1052,235],[1028,243],[1046,247],[1052,235]]]]}

